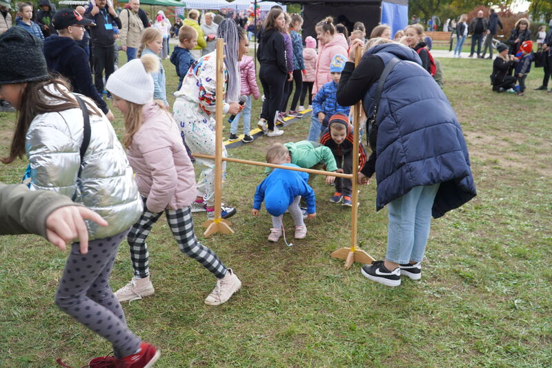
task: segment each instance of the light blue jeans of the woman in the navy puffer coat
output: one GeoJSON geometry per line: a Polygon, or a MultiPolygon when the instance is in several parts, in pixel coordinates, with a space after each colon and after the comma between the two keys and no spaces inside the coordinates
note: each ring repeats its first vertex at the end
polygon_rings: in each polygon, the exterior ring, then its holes
{"type": "Polygon", "coordinates": [[[431,226],[431,208],[439,185],[415,186],[402,197],[389,202],[386,260],[404,264],[424,259],[431,226]]]}

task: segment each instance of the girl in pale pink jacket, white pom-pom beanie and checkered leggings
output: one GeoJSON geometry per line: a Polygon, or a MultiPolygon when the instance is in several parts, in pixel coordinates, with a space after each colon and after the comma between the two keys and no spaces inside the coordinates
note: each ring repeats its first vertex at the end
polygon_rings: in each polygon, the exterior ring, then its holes
{"type": "Polygon", "coordinates": [[[195,237],[190,212],[190,204],[196,197],[195,173],[177,124],[163,102],[153,100],[150,73],[156,70],[159,70],[159,59],[155,55],[144,55],[119,68],[106,84],[113,95],[114,106],[125,118],[124,146],[144,200],[144,213],[132,226],[127,238],[134,277],[117,290],[115,296],[119,301],[130,301],[154,293],[146,238],[153,224],[165,212],[180,251],[217,277],[217,286],[205,303],[219,305],[226,302],[242,282],[224,266],[214,251],[195,237]]]}

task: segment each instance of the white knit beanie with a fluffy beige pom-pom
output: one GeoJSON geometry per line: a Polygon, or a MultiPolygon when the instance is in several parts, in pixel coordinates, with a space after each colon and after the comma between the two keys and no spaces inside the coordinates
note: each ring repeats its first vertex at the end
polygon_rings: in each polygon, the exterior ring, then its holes
{"type": "Polygon", "coordinates": [[[128,61],[110,75],[106,89],[121,99],[144,105],[153,101],[153,78],[150,72],[159,70],[159,59],[155,55],[144,55],[128,61]]]}

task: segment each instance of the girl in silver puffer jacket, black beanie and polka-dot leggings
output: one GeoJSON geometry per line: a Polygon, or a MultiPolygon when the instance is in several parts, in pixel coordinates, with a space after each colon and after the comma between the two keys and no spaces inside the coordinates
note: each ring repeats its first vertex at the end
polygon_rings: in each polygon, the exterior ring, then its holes
{"type": "Polygon", "coordinates": [[[0,98],[21,112],[2,162],[26,155],[32,190],[66,195],[108,222],[88,223],[88,249],[72,244],[55,302],[111,342],[115,357],[95,358],[92,367],[145,367],[159,351],[128,329],[108,283],[119,244],[143,208],[115,130],[90,99],[48,73],[41,42],[21,28],[0,36],[0,65],[0,98]]]}

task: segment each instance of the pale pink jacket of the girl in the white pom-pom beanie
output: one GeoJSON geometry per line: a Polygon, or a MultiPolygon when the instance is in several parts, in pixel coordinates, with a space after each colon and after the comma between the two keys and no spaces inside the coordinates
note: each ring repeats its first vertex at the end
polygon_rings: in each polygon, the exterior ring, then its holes
{"type": "Polygon", "coordinates": [[[142,125],[132,137],[128,161],[150,212],[182,209],[195,200],[195,173],[175,121],[157,104],[142,108],[142,125]]]}

